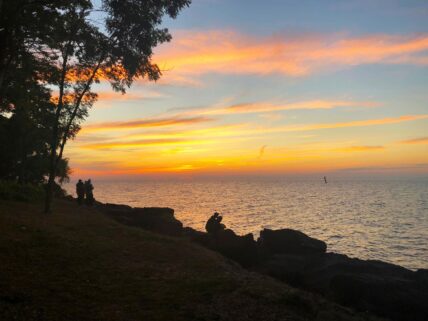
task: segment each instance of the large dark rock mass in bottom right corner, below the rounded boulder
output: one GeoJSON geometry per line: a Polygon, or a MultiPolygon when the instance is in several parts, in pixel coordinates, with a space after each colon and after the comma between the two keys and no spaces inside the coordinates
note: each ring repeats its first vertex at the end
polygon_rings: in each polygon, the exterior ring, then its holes
{"type": "Polygon", "coordinates": [[[335,253],[273,255],[259,270],[359,311],[398,321],[428,320],[423,271],[335,253]]]}

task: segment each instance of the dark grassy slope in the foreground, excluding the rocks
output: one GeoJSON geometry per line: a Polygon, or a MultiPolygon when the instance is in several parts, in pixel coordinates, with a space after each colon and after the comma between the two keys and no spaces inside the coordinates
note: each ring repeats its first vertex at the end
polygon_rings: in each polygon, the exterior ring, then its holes
{"type": "Polygon", "coordinates": [[[186,240],[0,201],[0,320],[363,320],[186,240]]]}

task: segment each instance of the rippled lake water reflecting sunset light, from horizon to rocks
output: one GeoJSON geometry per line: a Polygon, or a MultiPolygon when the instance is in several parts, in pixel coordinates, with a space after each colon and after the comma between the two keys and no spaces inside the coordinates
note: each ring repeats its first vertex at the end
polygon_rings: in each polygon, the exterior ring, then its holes
{"type": "MultiPolygon", "coordinates": [[[[428,268],[428,181],[227,179],[93,182],[101,202],[171,207],[185,226],[204,230],[218,211],[238,234],[293,228],[328,251],[428,268]]],[[[73,195],[74,184],[66,189],[73,195]]]]}

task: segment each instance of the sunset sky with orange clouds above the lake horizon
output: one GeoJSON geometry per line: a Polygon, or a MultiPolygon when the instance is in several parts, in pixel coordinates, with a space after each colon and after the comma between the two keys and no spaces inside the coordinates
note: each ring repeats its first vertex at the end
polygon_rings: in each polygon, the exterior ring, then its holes
{"type": "Polygon", "coordinates": [[[193,0],[99,100],[72,177],[428,177],[428,2],[193,0]]]}

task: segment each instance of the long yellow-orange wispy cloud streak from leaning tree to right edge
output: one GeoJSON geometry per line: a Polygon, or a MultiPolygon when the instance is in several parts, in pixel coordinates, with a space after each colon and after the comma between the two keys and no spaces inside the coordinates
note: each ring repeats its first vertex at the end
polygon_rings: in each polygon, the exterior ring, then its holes
{"type": "MultiPolygon", "coordinates": [[[[340,129],[351,127],[367,127],[367,126],[381,126],[388,124],[399,124],[402,122],[417,121],[428,119],[428,115],[403,115],[399,117],[388,117],[378,119],[365,119],[348,122],[333,122],[333,123],[313,123],[313,124],[296,124],[286,126],[258,126],[251,123],[238,123],[233,125],[219,125],[205,128],[188,128],[187,125],[209,122],[210,118],[162,118],[150,120],[137,120],[137,121],[124,121],[124,122],[111,122],[92,124],[84,129],[84,136],[82,140],[77,139],[81,143],[94,142],[94,146],[106,148],[110,144],[109,141],[123,141],[121,146],[125,145],[139,145],[141,146],[156,143],[180,143],[180,140],[198,141],[200,139],[219,141],[230,138],[244,137],[261,137],[262,135],[269,135],[275,133],[288,133],[288,132],[312,132],[318,130],[340,129]],[[122,129],[145,129],[144,132],[128,133],[125,135],[111,135],[111,131],[122,129]],[[108,132],[109,136],[92,136],[93,132],[108,132]],[[94,137],[94,140],[92,140],[94,137]],[[165,141],[163,141],[165,140],[165,141]],[[105,143],[105,144],[104,144],[105,143]],[[104,145],[103,145],[104,144],[104,145]]],[[[312,137],[312,136],[309,136],[312,137]]],[[[422,139],[420,139],[422,141],[422,139]]],[[[416,142],[415,142],[416,143],[416,142]]],[[[422,143],[422,142],[419,142],[422,143]]],[[[119,146],[115,142],[112,144],[119,146]]],[[[94,147],[92,144],[85,145],[86,147],[94,147]]],[[[381,146],[354,146],[347,147],[348,151],[358,151],[363,149],[379,149],[381,146]]],[[[264,150],[263,150],[264,151],[264,150]]]]}

